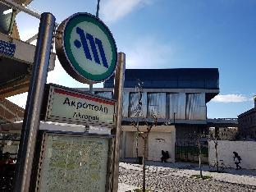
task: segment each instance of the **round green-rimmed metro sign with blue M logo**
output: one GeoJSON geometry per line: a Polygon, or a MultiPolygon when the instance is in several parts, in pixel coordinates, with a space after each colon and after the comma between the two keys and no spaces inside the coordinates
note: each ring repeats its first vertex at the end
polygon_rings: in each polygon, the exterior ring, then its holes
{"type": "Polygon", "coordinates": [[[89,13],[76,13],[59,25],[56,52],[66,72],[83,83],[107,80],[117,66],[112,33],[89,13]]]}

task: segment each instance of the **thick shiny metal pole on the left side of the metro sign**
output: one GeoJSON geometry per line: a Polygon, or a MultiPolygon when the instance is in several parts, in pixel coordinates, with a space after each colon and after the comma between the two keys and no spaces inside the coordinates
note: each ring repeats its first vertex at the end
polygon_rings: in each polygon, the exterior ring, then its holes
{"type": "Polygon", "coordinates": [[[16,184],[14,188],[16,192],[27,192],[30,190],[34,147],[39,130],[39,117],[53,42],[54,21],[55,17],[51,13],[44,12],[41,15],[39,38],[34,53],[33,72],[21,130],[16,184]]]}

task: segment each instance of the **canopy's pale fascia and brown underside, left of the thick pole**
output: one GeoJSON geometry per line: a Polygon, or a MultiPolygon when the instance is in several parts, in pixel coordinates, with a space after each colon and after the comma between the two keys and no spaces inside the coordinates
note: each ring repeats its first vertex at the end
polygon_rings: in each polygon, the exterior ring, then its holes
{"type": "MultiPolygon", "coordinates": [[[[0,34],[0,98],[21,94],[29,89],[34,52],[34,45],[0,34]],[[9,42],[14,47],[11,55],[2,51],[3,44],[9,42]]],[[[55,58],[55,53],[52,53],[48,71],[54,69],[55,58]]]]}

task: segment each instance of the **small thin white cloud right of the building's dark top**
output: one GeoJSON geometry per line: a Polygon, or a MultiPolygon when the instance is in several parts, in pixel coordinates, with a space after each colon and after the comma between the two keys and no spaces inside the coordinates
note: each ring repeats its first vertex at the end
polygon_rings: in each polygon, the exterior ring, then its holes
{"type": "Polygon", "coordinates": [[[242,94],[219,94],[215,98],[213,98],[212,101],[218,103],[239,103],[252,100],[253,98],[246,97],[242,94]]]}

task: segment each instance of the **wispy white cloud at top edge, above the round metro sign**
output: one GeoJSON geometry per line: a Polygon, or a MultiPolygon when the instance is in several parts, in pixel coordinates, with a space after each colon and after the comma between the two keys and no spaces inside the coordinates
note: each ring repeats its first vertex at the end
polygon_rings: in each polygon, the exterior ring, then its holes
{"type": "Polygon", "coordinates": [[[144,7],[151,2],[152,0],[106,0],[101,5],[100,12],[103,21],[114,22],[134,11],[136,7],[144,7]]]}

